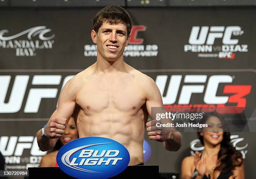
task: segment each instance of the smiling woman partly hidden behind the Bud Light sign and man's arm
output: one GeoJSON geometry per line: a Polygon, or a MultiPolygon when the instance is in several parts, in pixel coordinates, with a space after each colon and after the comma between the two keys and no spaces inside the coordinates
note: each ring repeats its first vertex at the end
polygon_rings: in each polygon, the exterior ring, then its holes
{"type": "Polygon", "coordinates": [[[51,150],[48,154],[46,154],[40,163],[40,167],[58,167],[56,162],[56,156],[59,152],[59,149],[67,144],[68,142],[78,138],[78,131],[76,124],[74,122],[74,118],[71,117],[69,119],[69,123],[67,124],[66,129],[64,130],[64,134],[59,140],[56,142],[54,149],[51,150]]]}

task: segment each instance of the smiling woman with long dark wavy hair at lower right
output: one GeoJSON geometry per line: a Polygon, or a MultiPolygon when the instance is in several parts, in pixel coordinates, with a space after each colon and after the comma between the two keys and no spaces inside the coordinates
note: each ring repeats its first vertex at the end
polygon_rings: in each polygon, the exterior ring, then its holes
{"type": "Polygon", "coordinates": [[[208,124],[197,133],[205,149],[183,159],[181,178],[208,179],[211,174],[211,179],[244,179],[243,157],[230,144],[230,132],[223,117],[208,113],[200,123],[208,124]]]}

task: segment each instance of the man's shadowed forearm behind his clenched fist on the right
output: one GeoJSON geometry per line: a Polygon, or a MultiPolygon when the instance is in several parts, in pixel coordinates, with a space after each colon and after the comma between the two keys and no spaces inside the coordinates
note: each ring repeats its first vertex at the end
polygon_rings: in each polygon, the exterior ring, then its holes
{"type": "Polygon", "coordinates": [[[173,139],[164,141],[164,148],[169,151],[178,151],[182,145],[182,136],[179,132],[172,132],[173,139]]]}

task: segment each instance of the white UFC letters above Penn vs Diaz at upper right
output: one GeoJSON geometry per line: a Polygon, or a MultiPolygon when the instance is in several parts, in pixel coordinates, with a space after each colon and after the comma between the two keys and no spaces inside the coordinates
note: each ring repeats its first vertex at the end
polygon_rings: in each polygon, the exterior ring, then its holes
{"type": "Polygon", "coordinates": [[[242,35],[243,30],[239,26],[193,26],[190,36],[189,44],[191,45],[213,45],[215,39],[222,38],[224,45],[236,45],[238,39],[231,39],[232,35],[242,35]],[[209,30],[210,29],[210,30],[209,30]]]}

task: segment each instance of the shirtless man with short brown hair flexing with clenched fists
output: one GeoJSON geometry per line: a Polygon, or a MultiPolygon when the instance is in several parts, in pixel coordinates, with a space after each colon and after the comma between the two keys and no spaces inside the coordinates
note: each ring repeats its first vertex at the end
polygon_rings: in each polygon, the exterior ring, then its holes
{"type": "Polygon", "coordinates": [[[151,107],[163,107],[154,80],[123,61],[131,32],[131,17],[120,6],[108,6],[93,19],[92,41],[97,44],[97,61],[75,75],[64,86],[57,109],[51,115],[42,137],[41,150],[52,149],[64,133],[74,113],[79,137],[106,137],[123,144],[129,151],[129,165],[143,163],[145,126],[149,139],[163,142],[164,148],[177,151],[181,135],[162,131],[156,122],[147,122],[151,107]]]}

